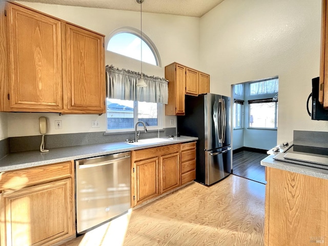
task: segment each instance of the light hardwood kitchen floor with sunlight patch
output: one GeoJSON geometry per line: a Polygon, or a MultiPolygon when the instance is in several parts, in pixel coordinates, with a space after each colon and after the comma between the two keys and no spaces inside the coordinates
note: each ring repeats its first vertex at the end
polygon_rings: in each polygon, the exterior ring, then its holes
{"type": "Polygon", "coordinates": [[[263,245],[264,189],[235,175],[195,182],[63,245],[263,245]]]}

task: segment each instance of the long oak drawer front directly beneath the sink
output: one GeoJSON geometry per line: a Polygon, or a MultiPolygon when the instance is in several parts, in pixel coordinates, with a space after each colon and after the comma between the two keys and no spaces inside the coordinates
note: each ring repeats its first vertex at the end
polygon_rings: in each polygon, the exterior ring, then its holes
{"type": "Polygon", "coordinates": [[[134,161],[144,160],[148,158],[152,158],[154,156],[166,155],[168,153],[176,153],[179,152],[179,144],[175,145],[165,145],[160,147],[148,148],[143,150],[136,150],[134,152],[134,161]]]}

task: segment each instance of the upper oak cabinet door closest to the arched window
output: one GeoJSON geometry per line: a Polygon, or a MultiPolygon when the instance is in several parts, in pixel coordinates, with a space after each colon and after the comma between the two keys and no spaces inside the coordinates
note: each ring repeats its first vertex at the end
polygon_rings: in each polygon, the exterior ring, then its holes
{"type": "Polygon", "coordinates": [[[104,36],[69,24],[65,24],[65,29],[66,31],[63,31],[66,35],[63,39],[64,89],[67,94],[65,111],[104,113],[104,36]]]}

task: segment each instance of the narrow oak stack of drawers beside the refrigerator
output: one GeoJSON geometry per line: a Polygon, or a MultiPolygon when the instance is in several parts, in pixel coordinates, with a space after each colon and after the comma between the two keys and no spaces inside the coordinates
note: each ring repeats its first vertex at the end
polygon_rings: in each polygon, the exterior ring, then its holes
{"type": "Polygon", "coordinates": [[[181,151],[181,185],[196,178],[196,142],[180,144],[181,151]]]}

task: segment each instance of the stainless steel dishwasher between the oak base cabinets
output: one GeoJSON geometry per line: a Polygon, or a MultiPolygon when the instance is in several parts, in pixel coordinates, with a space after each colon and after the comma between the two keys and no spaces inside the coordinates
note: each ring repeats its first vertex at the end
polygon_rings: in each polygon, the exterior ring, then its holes
{"type": "Polygon", "coordinates": [[[78,234],[131,208],[131,152],[76,160],[75,175],[78,234]]]}

